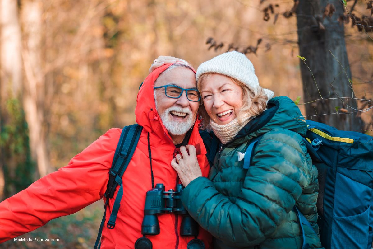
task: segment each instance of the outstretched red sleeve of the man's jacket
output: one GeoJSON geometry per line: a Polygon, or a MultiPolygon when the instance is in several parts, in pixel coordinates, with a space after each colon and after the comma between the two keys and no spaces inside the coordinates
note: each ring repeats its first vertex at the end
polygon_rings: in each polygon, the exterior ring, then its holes
{"type": "Polygon", "coordinates": [[[0,243],[101,199],[119,136],[119,129],[110,129],[68,165],[1,202],[0,243]]]}

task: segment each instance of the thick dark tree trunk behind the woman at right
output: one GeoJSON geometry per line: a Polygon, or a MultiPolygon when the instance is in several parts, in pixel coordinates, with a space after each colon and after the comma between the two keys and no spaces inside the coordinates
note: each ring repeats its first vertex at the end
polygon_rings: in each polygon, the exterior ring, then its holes
{"type": "MultiPolygon", "coordinates": [[[[299,1],[299,0],[296,0],[299,1]]],[[[340,130],[362,131],[363,122],[360,113],[355,112],[357,102],[342,97],[356,97],[352,90],[350,66],[348,63],[344,25],[338,22],[343,15],[344,6],[339,0],[301,0],[297,8],[298,41],[301,60],[304,102],[320,99],[339,98],[336,100],[319,100],[305,105],[307,117],[324,122],[340,130]],[[335,7],[331,17],[323,18],[326,5],[335,7]],[[335,57],[334,57],[335,56],[335,57]],[[308,69],[307,64],[310,69],[308,69]],[[313,79],[313,76],[316,80],[313,79]],[[317,84],[317,86],[316,86],[317,84]],[[321,95],[321,96],[320,96],[321,95]],[[329,114],[341,112],[352,114],[329,114]]]]}

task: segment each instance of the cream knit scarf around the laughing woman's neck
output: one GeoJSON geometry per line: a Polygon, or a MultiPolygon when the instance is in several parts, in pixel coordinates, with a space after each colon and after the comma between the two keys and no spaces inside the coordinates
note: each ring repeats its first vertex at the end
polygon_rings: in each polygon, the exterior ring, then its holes
{"type": "Polygon", "coordinates": [[[225,125],[218,125],[212,119],[210,119],[210,125],[214,131],[215,136],[217,136],[222,144],[226,144],[237,135],[237,133],[244,128],[244,126],[253,119],[254,116],[250,116],[249,113],[245,113],[242,116],[242,123],[239,124],[237,118],[233,119],[231,122],[225,125]]]}

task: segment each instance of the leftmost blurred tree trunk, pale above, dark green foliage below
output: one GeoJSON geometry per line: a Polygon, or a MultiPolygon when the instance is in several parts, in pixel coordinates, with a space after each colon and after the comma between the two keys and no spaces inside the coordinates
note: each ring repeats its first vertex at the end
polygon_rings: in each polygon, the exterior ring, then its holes
{"type": "Polygon", "coordinates": [[[33,181],[28,130],[22,109],[21,27],[18,5],[0,0],[0,199],[33,181]]]}

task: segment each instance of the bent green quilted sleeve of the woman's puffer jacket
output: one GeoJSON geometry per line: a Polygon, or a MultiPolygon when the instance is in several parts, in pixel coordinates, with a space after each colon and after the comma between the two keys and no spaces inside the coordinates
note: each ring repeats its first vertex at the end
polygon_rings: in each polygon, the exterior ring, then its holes
{"type": "Polygon", "coordinates": [[[258,142],[235,203],[204,177],[191,181],[182,202],[204,229],[227,245],[257,245],[276,230],[310,183],[305,151],[298,134],[272,130],[258,142]]]}

